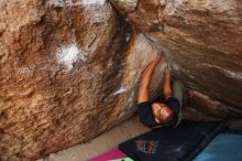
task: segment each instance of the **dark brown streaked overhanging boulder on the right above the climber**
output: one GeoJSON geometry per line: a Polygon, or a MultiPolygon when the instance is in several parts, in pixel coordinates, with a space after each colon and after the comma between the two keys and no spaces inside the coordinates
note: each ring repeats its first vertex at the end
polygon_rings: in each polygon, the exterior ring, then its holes
{"type": "Polygon", "coordinates": [[[240,0],[110,1],[161,47],[174,77],[196,90],[197,109],[218,118],[242,116],[240,0]]]}

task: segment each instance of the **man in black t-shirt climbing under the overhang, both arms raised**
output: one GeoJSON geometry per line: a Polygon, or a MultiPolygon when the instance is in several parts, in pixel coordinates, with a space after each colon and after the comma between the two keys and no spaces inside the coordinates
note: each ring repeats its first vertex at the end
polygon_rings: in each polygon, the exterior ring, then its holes
{"type": "Polygon", "coordinates": [[[170,88],[169,67],[166,66],[163,83],[165,101],[151,103],[148,86],[160,60],[161,57],[156,56],[142,74],[138,92],[138,115],[140,121],[150,128],[174,128],[182,120],[184,86],[180,82],[175,80],[170,88]]]}

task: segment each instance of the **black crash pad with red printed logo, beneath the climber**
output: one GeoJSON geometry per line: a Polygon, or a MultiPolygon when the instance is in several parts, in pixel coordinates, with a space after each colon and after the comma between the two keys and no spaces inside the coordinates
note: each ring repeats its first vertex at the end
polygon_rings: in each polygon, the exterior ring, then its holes
{"type": "Polygon", "coordinates": [[[182,121],[174,129],[154,129],[119,144],[135,161],[193,160],[215,136],[226,129],[217,121],[182,121]]]}

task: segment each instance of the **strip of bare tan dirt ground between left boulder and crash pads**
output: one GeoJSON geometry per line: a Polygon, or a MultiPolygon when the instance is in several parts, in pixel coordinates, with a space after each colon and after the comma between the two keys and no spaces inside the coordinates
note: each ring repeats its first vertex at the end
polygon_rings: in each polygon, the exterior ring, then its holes
{"type": "Polygon", "coordinates": [[[146,131],[148,128],[141,125],[136,117],[133,117],[90,142],[76,144],[36,161],[87,161],[146,131]]]}

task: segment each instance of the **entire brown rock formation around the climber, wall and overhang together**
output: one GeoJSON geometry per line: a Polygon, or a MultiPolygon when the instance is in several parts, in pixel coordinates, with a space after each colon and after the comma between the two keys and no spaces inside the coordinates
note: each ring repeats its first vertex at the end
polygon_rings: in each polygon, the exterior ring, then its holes
{"type": "Polygon", "coordinates": [[[196,90],[186,118],[242,116],[240,0],[110,2],[0,2],[0,160],[34,160],[129,118],[142,71],[161,50],[196,90]]]}

